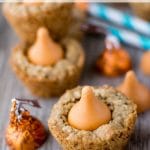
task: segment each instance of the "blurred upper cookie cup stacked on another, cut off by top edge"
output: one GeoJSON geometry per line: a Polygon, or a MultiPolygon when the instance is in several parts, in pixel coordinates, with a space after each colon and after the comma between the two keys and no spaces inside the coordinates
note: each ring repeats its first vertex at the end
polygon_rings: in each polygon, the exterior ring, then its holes
{"type": "Polygon", "coordinates": [[[3,12],[23,41],[32,43],[36,31],[45,26],[53,39],[63,37],[79,37],[80,21],[74,15],[73,3],[5,3],[3,12]]]}

